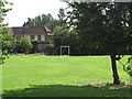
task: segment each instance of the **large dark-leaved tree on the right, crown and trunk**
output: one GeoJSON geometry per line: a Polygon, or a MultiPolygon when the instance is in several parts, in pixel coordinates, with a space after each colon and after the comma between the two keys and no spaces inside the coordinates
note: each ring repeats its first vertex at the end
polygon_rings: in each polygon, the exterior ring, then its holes
{"type": "Polygon", "coordinates": [[[124,50],[130,50],[131,4],[130,3],[68,3],[69,25],[78,31],[85,46],[107,51],[110,55],[113,84],[119,85],[117,61],[124,50]]]}

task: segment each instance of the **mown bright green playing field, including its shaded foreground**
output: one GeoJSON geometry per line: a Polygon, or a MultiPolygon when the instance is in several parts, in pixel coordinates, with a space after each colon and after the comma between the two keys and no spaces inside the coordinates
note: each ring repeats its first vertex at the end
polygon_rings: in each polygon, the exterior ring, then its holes
{"type": "MultiPolygon", "coordinates": [[[[129,84],[121,65],[118,70],[121,81],[129,84]]],[[[3,96],[130,96],[130,88],[95,87],[107,82],[112,84],[109,56],[10,56],[2,67],[3,96]]]]}

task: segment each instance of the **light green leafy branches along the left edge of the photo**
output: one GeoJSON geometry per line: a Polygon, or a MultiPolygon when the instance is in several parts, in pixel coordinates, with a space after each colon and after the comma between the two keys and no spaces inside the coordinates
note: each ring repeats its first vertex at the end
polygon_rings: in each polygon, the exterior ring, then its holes
{"type": "Polygon", "coordinates": [[[6,0],[0,0],[0,64],[3,63],[3,61],[7,58],[8,56],[8,51],[7,48],[2,50],[2,45],[1,43],[6,43],[7,38],[2,38],[2,35],[8,34],[8,29],[6,29],[6,26],[8,25],[8,23],[3,23],[4,16],[7,15],[7,12],[9,12],[11,10],[11,8],[6,8],[7,4],[12,6],[13,3],[8,2],[6,0]],[[2,54],[1,54],[2,53],[2,54]]]}

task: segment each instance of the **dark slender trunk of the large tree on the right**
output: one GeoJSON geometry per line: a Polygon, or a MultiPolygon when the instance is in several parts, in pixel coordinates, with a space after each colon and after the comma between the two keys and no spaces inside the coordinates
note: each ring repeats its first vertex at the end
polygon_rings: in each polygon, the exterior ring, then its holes
{"type": "Polygon", "coordinates": [[[116,55],[111,54],[110,57],[111,57],[111,65],[112,65],[112,73],[113,73],[113,85],[119,85],[120,80],[119,80],[119,75],[117,70],[116,55]]]}

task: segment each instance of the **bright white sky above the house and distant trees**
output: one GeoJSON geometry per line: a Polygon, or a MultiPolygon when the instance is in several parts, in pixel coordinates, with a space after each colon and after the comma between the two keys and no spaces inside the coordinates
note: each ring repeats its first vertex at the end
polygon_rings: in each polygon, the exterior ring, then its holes
{"type": "MultiPolygon", "coordinates": [[[[7,13],[4,22],[9,26],[22,26],[28,18],[35,18],[38,14],[51,13],[57,19],[59,8],[66,8],[66,2],[61,0],[8,0],[13,3],[12,10],[7,13]]],[[[9,8],[9,7],[7,7],[9,8]]]]}

